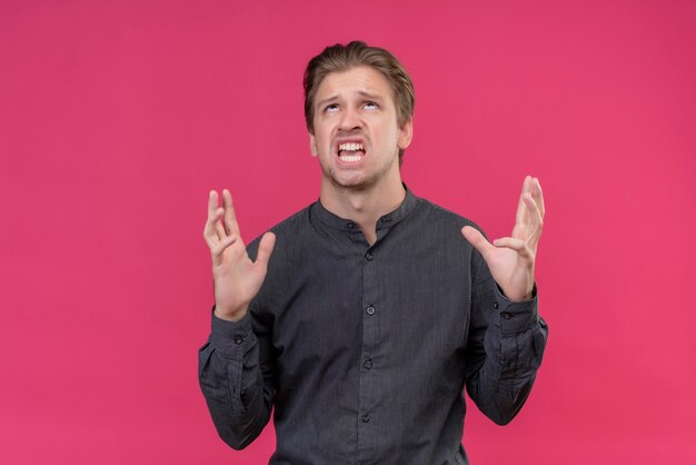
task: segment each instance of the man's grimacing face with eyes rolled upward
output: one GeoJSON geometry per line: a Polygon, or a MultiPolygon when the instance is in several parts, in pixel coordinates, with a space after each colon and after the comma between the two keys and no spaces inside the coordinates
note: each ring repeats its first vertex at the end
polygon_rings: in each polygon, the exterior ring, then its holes
{"type": "Polygon", "coordinates": [[[399,149],[411,140],[411,120],[399,127],[387,79],[369,67],[329,73],[315,98],[312,155],[325,181],[366,189],[385,179],[400,180],[399,149]]]}

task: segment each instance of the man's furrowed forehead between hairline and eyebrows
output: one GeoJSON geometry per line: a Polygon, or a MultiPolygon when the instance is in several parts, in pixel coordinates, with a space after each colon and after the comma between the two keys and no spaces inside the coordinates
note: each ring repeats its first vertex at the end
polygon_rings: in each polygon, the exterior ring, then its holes
{"type": "Polygon", "coordinates": [[[391,86],[381,72],[367,66],[328,73],[317,88],[316,102],[330,98],[350,98],[361,95],[392,100],[391,86]]]}

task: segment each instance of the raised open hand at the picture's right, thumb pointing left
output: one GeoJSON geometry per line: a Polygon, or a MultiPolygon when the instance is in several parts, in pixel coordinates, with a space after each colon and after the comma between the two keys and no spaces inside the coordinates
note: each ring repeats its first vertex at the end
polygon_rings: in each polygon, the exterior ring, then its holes
{"type": "Polygon", "coordinates": [[[531,298],[534,263],[544,225],[544,195],[537,178],[527,176],[517,206],[511,237],[490,244],[475,228],[461,228],[464,237],[481,254],[493,278],[507,298],[521,301],[531,298]]]}

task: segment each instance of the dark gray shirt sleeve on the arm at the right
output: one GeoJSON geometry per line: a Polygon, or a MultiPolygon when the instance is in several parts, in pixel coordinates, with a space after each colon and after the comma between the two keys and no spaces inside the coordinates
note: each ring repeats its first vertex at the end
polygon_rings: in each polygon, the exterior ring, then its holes
{"type": "Polygon", "coordinates": [[[534,298],[514,303],[498,289],[480,260],[471,296],[466,387],[478,408],[499,425],[525,404],[541,364],[548,336],[534,298]]]}

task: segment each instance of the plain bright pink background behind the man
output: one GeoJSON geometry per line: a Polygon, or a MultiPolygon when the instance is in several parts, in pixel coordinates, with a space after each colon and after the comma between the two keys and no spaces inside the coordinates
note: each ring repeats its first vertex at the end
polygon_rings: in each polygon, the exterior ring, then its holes
{"type": "Polygon", "coordinates": [[[0,462],[267,462],[198,388],[207,192],[248,240],[314,201],[301,73],[361,38],[412,75],[417,195],[497,237],[545,189],[545,363],[473,464],[696,463],[695,4],[0,2],[0,462]]]}

